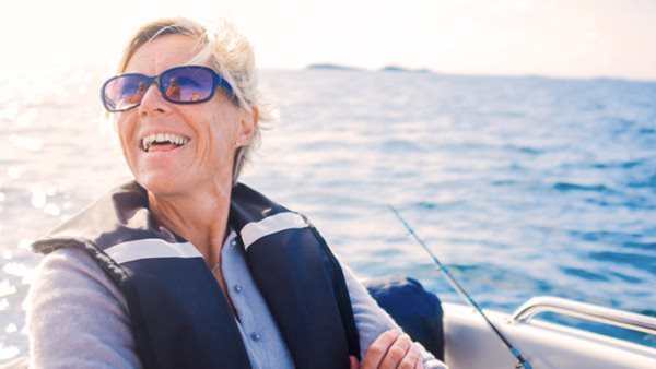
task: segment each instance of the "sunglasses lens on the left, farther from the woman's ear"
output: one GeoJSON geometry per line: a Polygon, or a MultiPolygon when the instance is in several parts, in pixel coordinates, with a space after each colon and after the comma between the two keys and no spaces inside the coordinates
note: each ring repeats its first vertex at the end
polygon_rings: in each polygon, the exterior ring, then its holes
{"type": "Polygon", "coordinates": [[[105,84],[103,98],[112,111],[126,110],[141,103],[145,94],[145,78],[140,75],[119,75],[105,84]]]}

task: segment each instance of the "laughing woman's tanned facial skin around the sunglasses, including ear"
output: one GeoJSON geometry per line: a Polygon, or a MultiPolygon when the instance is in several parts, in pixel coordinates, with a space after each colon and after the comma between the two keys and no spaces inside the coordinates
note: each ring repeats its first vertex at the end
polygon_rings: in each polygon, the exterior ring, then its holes
{"type": "MultiPolygon", "coordinates": [[[[195,57],[196,41],[180,35],[156,38],[132,56],[126,73],[157,75],[195,57]]],[[[250,142],[254,121],[224,90],[200,104],[165,100],[156,85],[147,86],[141,105],[119,112],[117,130],[124,156],[137,181],[154,194],[180,195],[231,183],[237,143],[250,142]],[[183,145],[150,145],[152,134],[175,134],[183,145]]],[[[175,136],[174,136],[175,138],[175,136]]]]}

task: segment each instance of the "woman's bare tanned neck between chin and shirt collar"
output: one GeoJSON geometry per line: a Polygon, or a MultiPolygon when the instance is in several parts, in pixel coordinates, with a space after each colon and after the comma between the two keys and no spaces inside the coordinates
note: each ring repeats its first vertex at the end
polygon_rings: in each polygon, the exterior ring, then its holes
{"type": "Polygon", "coordinates": [[[150,210],[156,222],[191,242],[208,265],[221,261],[230,211],[230,182],[211,189],[195,189],[185,194],[148,192],[150,210]]]}

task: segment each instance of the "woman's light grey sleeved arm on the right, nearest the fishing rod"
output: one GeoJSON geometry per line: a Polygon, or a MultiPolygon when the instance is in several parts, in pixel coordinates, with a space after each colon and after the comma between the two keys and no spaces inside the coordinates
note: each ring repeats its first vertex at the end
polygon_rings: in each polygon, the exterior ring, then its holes
{"type": "MultiPolygon", "coordinates": [[[[355,325],[358,326],[358,333],[360,335],[360,350],[363,364],[366,364],[366,354],[370,350],[370,347],[374,347],[374,349],[378,352],[376,356],[380,356],[380,352],[387,352],[388,348],[395,344],[400,345],[401,348],[405,347],[405,342],[402,342],[403,337],[398,333],[401,332],[401,329],[391,317],[376,303],[376,300],[367,293],[366,288],[358,282],[353,272],[344,263],[340,262],[340,264],[344,273],[349,295],[351,296],[353,316],[355,317],[355,325]],[[398,343],[397,340],[399,340],[398,343]]],[[[437,360],[431,353],[426,352],[421,344],[414,343],[413,349],[419,352],[424,368],[446,368],[442,361],[437,360]]],[[[374,360],[377,360],[377,358],[374,358],[374,360]]]]}

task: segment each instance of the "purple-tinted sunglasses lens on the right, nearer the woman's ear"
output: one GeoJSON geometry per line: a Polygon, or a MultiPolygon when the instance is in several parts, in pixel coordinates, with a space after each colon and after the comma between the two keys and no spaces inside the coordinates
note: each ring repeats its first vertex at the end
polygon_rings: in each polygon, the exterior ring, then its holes
{"type": "Polygon", "coordinates": [[[164,72],[161,83],[168,100],[194,103],[204,100],[212,95],[214,80],[210,70],[189,67],[164,72]]]}

